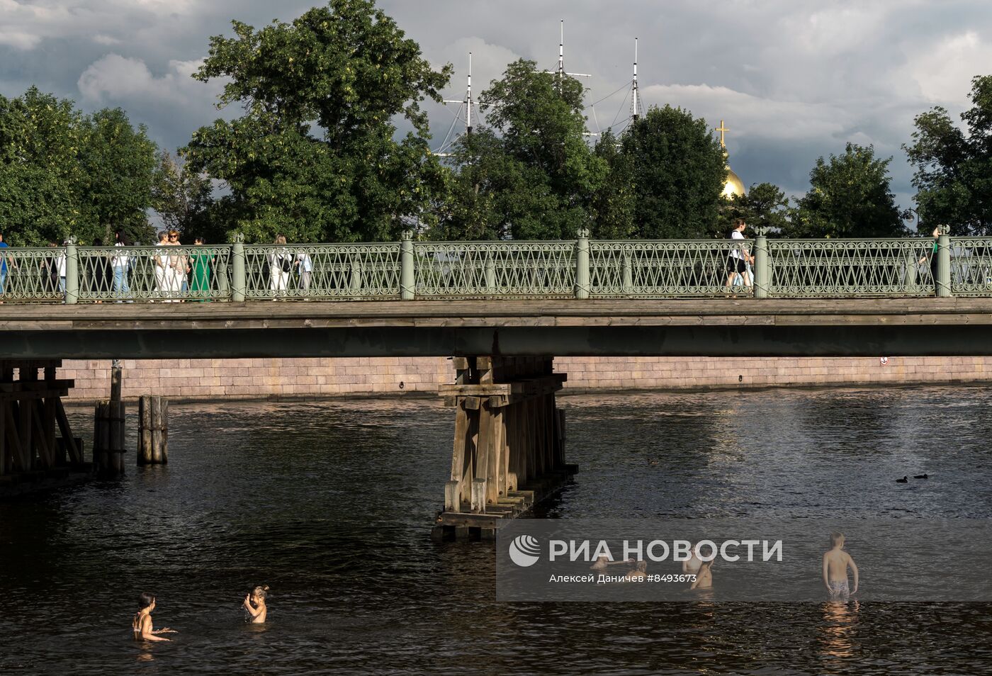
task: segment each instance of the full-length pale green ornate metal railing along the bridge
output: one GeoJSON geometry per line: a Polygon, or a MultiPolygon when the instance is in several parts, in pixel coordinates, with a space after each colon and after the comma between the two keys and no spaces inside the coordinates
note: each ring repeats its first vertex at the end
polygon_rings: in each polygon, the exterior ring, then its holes
{"type": "Polygon", "coordinates": [[[992,237],[0,249],[0,301],[992,297],[992,237]]]}

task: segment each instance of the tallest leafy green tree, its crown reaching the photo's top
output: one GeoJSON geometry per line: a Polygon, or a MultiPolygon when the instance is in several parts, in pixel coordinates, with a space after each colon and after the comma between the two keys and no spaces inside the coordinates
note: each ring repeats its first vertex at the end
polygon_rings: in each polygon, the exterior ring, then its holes
{"type": "Polygon", "coordinates": [[[231,229],[270,241],[394,238],[402,216],[430,219],[444,190],[428,147],[425,97],[448,80],[373,0],[331,0],[292,24],[260,31],[233,22],[210,39],[194,74],[226,78],[218,107],[245,113],[197,130],[181,152],[189,170],[224,182],[216,208],[231,229]],[[394,139],[392,120],[413,127],[394,139]]]}

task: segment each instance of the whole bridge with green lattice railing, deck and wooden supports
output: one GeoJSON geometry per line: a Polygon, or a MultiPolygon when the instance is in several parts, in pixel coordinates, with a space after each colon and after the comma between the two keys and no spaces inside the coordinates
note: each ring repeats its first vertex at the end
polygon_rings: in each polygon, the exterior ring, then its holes
{"type": "Polygon", "coordinates": [[[490,536],[574,472],[556,355],[992,354],[992,238],[408,234],[0,256],[0,475],[81,458],[67,428],[55,436],[62,358],[451,356],[439,534],[490,536]]]}

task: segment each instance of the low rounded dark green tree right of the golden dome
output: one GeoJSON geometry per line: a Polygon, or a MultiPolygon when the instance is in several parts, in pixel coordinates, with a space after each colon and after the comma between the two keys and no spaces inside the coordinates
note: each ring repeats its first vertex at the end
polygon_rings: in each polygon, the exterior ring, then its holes
{"type": "Polygon", "coordinates": [[[906,233],[889,189],[888,160],[873,146],[848,143],[843,155],[817,158],[810,189],[797,202],[786,233],[793,237],[899,237],[906,233]]]}

